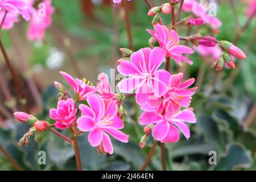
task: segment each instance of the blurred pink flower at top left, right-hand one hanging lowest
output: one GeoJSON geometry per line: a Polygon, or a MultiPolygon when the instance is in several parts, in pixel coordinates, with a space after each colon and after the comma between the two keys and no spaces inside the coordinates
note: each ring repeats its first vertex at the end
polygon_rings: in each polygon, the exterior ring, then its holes
{"type": "MultiPolygon", "coordinates": [[[[42,3],[46,5],[46,14],[44,16],[32,16],[30,19],[27,31],[27,38],[29,40],[43,39],[46,29],[52,24],[51,16],[55,11],[54,7],[51,5],[52,1],[44,0],[42,3]]],[[[27,13],[24,13],[23,16],[28,19],[27,13]]]]}

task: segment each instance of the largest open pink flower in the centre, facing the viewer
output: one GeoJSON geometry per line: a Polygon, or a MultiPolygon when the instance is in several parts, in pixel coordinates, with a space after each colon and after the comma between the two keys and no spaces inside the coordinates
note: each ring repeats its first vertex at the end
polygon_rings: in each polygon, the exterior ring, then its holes
{"type": "Polygon", "coordinates": [[[153,98],[161,97],[167,92],[167,84],[171,74],[160,65],[166,57],[164,49],[155,47],[139,49],[134,52],[130,60],[123,60],[117,67],[119,73],[129,78],[125,78],[118,83],[118,87],[123,93],[129,93],[134,89],[136,101],[139,105],[154,104],[153,98]]]}

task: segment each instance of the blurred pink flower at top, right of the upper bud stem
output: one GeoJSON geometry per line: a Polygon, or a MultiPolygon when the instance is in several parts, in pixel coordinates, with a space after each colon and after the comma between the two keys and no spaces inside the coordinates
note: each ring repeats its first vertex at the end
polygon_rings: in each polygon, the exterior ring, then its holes
{"type": "Polygon", "coordinates": [[[199,2],[196,2],[195,0],[185,0],[183,4],[183,10],[185,12],[192,11],[193,14],[203,19],[205,23],[210,24],[210,26],[212,26],[213,28],[218,28],[222,25],[221,21],[218,18],[208,14],[208,7],[202,5],[199,2]]]}

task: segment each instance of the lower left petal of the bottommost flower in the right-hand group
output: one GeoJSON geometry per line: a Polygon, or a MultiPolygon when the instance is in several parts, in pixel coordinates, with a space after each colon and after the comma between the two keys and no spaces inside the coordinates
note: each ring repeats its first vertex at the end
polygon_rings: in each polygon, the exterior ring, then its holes
{"type": "Polygon", "coordinates": [[[168,134],[169,127],[170,127],[169,123],[165,120],[162,120],[162,121],[156,123],[156,125],[153,127],[153,130],[152,130],[152,136],[156,140],[162,140],[162,139],[166,138],[166,135],[168,134]]]}

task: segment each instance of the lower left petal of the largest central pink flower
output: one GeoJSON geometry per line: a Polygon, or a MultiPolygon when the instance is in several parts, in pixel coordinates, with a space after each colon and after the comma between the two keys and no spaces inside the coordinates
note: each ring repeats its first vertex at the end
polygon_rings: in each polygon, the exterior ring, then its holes
{"type": "Polygon", "coordinates": [[[142,82],[141,77],[129,77],[118,83],[118,88],[122,93],[129,93],[136,89],[142,82]]]}

